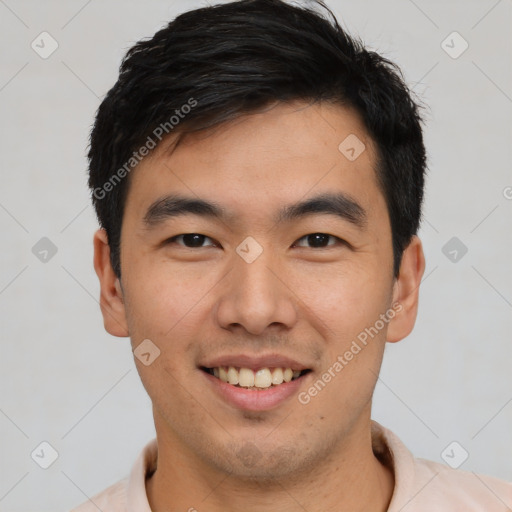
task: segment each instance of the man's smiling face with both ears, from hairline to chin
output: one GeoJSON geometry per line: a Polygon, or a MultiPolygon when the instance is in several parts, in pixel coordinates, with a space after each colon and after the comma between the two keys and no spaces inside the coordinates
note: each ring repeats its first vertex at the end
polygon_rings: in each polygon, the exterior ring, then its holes
{"type": "Polygon", "coordinates": [[[393,278],[364,125],[340,106],[277,104],[170,148],[130,177],[121,286],[98,237],[95,260],[107,330],[142,353],[159,442],[253,478],[357,446],[423,271],[415,242],[393,278]]]}

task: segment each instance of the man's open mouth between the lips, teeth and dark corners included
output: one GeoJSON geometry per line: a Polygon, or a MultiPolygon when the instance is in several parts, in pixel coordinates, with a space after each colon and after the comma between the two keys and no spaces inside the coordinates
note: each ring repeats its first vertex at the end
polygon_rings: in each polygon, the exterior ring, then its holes
{"type": "Polygon", "coordinates": [[[215,366],[213,368],[201,366],[200,368],[203,372],[235,388],[254,391],[276,388],[300,379],[311,372],[310,369],[299,370],[290,367],[263,367],[257,370],[239,366],[215,366]]]}

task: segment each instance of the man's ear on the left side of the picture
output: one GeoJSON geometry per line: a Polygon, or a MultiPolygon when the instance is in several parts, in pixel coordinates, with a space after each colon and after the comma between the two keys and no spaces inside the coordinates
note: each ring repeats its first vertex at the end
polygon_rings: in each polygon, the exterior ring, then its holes
{"type": "Polygon", "coordinates": [[[105,330],[112,336],[129,336],[123,291],[110,263],[110,246],[104,229],[94,233],[94,270],[100,280],[100,308],[105,330]]]}

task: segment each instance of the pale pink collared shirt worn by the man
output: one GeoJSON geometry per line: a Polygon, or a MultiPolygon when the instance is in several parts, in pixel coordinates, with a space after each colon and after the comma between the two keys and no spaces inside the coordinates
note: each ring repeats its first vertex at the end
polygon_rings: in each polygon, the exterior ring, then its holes
{"type": "MultiPolygon", "coordinates": [[[[372,421],[376,457],[393,470],[395,487],[388,512],[510,512],[512,482],[415,458],[390,430],[372,421]]],[[[448,451],[448,458],[454,452],[448,451]]],[[[155,469],[156,439],[142,450],[125,479],[71,512],[151,512],[146,475],[155,469]]]]}

